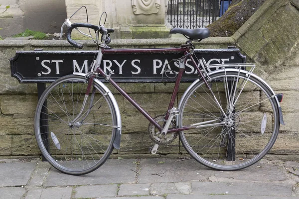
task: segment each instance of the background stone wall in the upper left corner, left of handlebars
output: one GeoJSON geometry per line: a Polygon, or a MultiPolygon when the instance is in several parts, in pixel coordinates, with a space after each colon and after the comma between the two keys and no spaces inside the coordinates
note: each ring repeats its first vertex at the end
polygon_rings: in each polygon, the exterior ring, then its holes
{"type": "Polygon", "coordinates": [[[1,36],[11,36],[25,29],[45,33],[60,32],[66,18],[65,0],[0,0],[1,36]]]}

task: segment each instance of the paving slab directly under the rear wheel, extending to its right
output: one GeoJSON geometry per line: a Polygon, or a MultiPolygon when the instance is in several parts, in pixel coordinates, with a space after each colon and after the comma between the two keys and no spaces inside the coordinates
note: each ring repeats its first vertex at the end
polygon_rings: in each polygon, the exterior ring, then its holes
{"type": "Polygon", "coordinates": [[[263,163],[256,163],[248,168],[234,172],[215,171],[215,177],[218,182],[225,182],[230,179],[248,181],[287,180],[287,175],[283,172],[282,167],[263,163]]]}

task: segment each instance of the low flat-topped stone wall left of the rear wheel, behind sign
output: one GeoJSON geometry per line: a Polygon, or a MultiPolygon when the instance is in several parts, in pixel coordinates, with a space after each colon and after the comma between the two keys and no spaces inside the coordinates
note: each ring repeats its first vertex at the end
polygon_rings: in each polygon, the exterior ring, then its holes
{"type": "MultiPolygon", "coordinates": [[[[90,41],[84,43],[84,50],[95,50],[95,45],[90,41]]],[[[179,46],[185,39],[149,39],[149,40],[113,40],[114,48],[147,48],[179,46]]],[[[209,38],[201,42],[197,48],[227,48],[233,44],[231,38],[209,38]]],[[[77,50],[71,47],[67,41],[59,40],[29,40],[29,41],[0,41],[0,157],[37,156],[40,154],[36,144],[33,129],[34,111],[37,104],[37,88],[35,84],[19,84],[10,76],[9,59],[15,55],[15,51],[34,50],[77,50]]],[[[164,114],[173,90],[173,84],[164,86],[155,84],[121,84],[146,110],[150,110],[152,116],[164,114]],[[163,101],[158,106],[157,101],[163,101]]],[[[185,91],[188,84],[182,84],[180,94],[185,91]]],[[[111,87],[109,87],[111,88],[111,87]]],[[[112,89],[112,88],[111,88],[112,89]]],[[[114,93],[115,90],[112,90],[114,93]]],[[[121,150],[115,150],[112,157],[160,157],[177,156],[180,147],[161,147],[160,153],[155,156],[149,154],[149,148],[153,146],[147,134],[148,120],[137,112],[119,94],[115,95],[122,114],[123,135],[121,150]],[[136,119],[138,118],[138,120],[136,119]],[[117,154],[116,154],[117,153],[117,154]]],[[[176,107],[178,100],[176,100],[176,107]]],[[[178,145],[179,142],[173,143],[178,145]]]]}

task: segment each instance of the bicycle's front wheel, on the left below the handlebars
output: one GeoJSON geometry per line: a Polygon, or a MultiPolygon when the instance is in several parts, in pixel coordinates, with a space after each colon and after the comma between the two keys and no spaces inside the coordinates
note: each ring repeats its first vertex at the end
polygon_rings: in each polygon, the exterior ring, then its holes
{"type": "Polygon", "coordinates": [[[95,82],[78,116],[87,85],[84,77],[74,75],[56,80],[40,97],[35,112],[35,137],[42,155],[72,175],[99,168],[112,153],[116,135],[113,103],[95,82]]]}

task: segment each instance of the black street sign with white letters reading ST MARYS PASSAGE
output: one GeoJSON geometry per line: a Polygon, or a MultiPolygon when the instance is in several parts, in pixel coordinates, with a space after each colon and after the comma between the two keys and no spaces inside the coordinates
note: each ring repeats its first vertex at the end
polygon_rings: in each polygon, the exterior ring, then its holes
{"type": "MultiPolygon", "coordinates": [[[[194,52],[199,60],[204,58],[208,64],[246,62],[246,57],[236,48],[194,52]]],[[[97,51],[17,51],[10,60],[11,76],[19,83],[51,83],[73,72],[85,73],[96,56],[97,51]]],[[[168,63],[181,56],[182,51],[108,53],[103,55],[101,68],[107,73],[114,71],[111,77],[116,82],[141,83],[161,82],[163,71],[171,69],[163,74],[163,81],[174,82],[175,79],[169,77],[175,76],[179,66],[175,62],[168,63]]],[[[182,82],[193,82],[197,77],[191,60],[187,60],[182,82]]]]}

